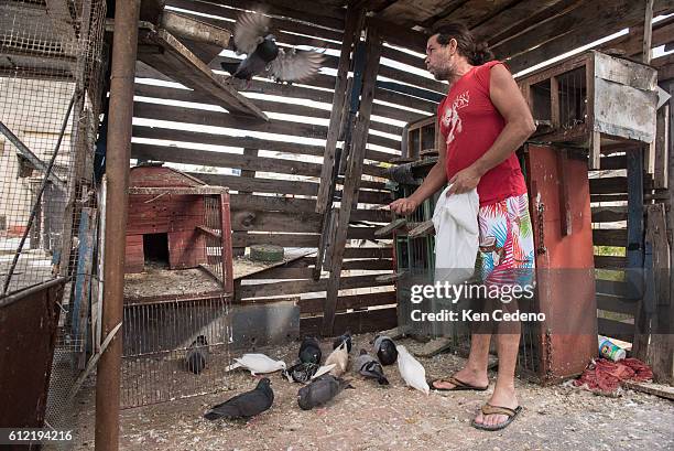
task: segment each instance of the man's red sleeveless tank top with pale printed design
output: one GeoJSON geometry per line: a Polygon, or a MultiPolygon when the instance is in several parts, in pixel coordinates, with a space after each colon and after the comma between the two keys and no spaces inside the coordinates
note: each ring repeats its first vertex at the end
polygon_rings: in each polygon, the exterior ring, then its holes
{"type": "MultiPolygon", "coordinates": [[[[437,114],[447,142],[447,180],[478,160],[503,130],[506,121],[489,97],[490,71],[498,61],[471,68],[441,103],[437,114]]],[[[482,175],[477,186],[480,206],[526,193],[514,152],[482,175]]]]}

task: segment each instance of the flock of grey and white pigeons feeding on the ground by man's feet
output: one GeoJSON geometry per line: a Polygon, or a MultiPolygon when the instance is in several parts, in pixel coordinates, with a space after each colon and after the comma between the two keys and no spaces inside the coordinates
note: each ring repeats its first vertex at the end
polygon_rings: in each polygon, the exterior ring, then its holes
{"type": "MultiPolygon", "coordinates": [[[[227,371],[244,368],[252,376],[281,371],[289,382],[304,384],[297,391],[297,405],[303,410],[311,410],[314,407],[327,404],[344,389],[354,388],[350,384],[351,380],[341,378],[349,366],[351,346],[350,333],[340,335],[335,339],[333,352],[322,364],[323,354],[318,340],[305,337],[300,345],[300,362],[290,368],[286,368],[285,362],[274,361],[264,354],[243,354],[240,358],[235,358],[235,363],[229,365],[227,371]]],[[[388,336],[378,335],[373,342],[373,351],[377,358],[368,354],[366,350],[360,350],[359,355],[354,359],[352,371],[355,373],[365,378],[374,379],[379,385],[389,385],[389,380],[383,373],[383,366],[393,365],[398,362],[398,369],[405,384],[426,395],[428,394],[430,387],[426,383],[424,367],[404,346],[395,345],[388,336]]],[[[189,365],[194,365],[194,362],[189,357],[187,358],[187,365],[192,371],[193,368],[189,365]]],[[[260,379],[254,389],[237,395],[210,408],[204,415],[204,418],[211,421],[220,418],[250,419],[268,410],[273,402],[274,391],[271,388],[271,380],[264,377],[260,379]]]]}

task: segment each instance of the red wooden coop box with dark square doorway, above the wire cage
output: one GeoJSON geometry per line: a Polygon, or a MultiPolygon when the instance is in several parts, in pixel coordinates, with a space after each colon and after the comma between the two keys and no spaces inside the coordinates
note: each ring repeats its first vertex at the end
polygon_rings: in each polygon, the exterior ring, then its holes
{"type": "Polygon", "coordinates": [[[157,164],[131,168],[124,268],[148,265],[202,268],[231,291],[228,189],[157,164]]]}

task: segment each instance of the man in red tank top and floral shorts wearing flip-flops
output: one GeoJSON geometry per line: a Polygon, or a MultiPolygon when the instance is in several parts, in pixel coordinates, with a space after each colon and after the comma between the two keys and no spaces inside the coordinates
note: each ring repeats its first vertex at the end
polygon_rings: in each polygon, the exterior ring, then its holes
{"type": "MultiPolygon", "coordinates": [[[[499,271],[533,268],[534,259],[526,185],[514,152],[535,126],[510,72],[489,60],[486,45],[476,44],[465,26],[434,30],[427,41],[426,66],[436,79],[449,83],[438,108],[447,148],[438,149],[437,163],[410,197],[390,204],[393,212],[409,215],[447,182],[452,185],[447,195],[477,187],[485,283],[499,271]]],[[[446,380],[433,382],[432,388],[486,389],[490,340],[490,333],[474,332],[466,367],[446,380]]],[[[472,421],[478,429],[502,429],[521,410],[514,389],[519,341],[519,323],[497,335],[499,372],[491,398],[472,421]]]]}

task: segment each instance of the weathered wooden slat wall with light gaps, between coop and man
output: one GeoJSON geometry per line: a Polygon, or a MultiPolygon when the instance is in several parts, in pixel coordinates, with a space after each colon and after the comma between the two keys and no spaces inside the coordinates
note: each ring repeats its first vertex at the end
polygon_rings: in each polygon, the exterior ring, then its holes
{"type": "MultiPolygon", "coordinates": [[[[238,0],[168,0],[166,3],[170,8],[187,10],[184,11],[187,13],[193,11],[209,14],[199,15],[199,19],[227,29],[232,29],[233,21],[241,11],[239,8],[244,7],[244,2],[238,0]]],[[[284,9],[284,18],[274,17],[272,25],[280,44],[311,45],[330,51],[340,49],[341,32],[337,31],[340,29],[337,25],[344,23],[343,17],[331,14],[333,17],[320,19],[324,25],[330,26],[326,29],[306,23],[306,15],[292,8],[292,2],[278,8],[284,9]],[[287,19],[293,14],[305,22],[287,19]]],[[[273,14],[275,9],[268,11],[273,14]]],[[[414,42],[418,44],[418,41],[414,42]]],[[[400,41],[394,43],[405,44],[400,41]]],[[[413,50],[423,52],[423,47],[418,46],[413,50]]],[[[380,66],[380,75],[439,94],[446,90],[445,84],[414,74],[405,67],[391,66],[391,61],[394,61],[423,69],[423,57],[391,46],[385,46],[382,55],[385,60],[380,66]]],[[[213,69],[219,71],[220,61],[225,61],[225,57],[217,56],[207,63],[213,69]]],[[[191,170],[192,175],[208,184],[229,186],[232,191],[231,222],[235,247],[253,244],[316,247],[320,233],[320,216],[314,208],[324,154],[323,140],[327,135],[336,80],[331,69],[337,67],[337,63],[336,56],[327,55],[324,65],[328,71],[302,85],[281,85],[263,79],[250,83],[243,93],[250,93],[253,103],[271,117],[269,122],[229,115],[219,108],[214,99],[192,89],[174,84],[164,83],[159,86],[153,80],[140,80],[135,85],[137,119],[133,126],[132,158],[189,164],[199,168],[191,170]],[[276,97],[259,98],[259,95],[276,97]],[[274,114],[293,115],[297,118],[286,120],[285,116],[278,117],[274,114]],[[149,124],[151,120],[164,122],[149,124]],[[283,135],[285,138],[280,140],[274,135],[283,135]],[[294,142],[293,137],[297,138],[297,142],[294,142]],[[304,138],[315,141],[307,143],[304,138]],[[243,152],[243,149],[247,151],[243,152]],[[240,169],[247,176],[203,170],[210,168],[240,169]]],[[[152,71],[145,74],[152,74],[152,71]]],[[[155,77],[165,79],[159,75],[155,77]]],[[[374,230],[389,221],[388,212],[374,207],[389,203],[390,193],[384,189],[384,180],[372,178],[383,175],[385,163],[400,155],[400,140],[394,137],[400,137],[403,129],[402,125],[393,121],[415,121],[435,114],[436,108],[437,104],[434,101],[377,88],[366,152],[367,164],[363,167],[363,174],[368,178],[363,180],[359,191],[359,202],[373,205],[370,208],[357,208],[351,213],[352,225],[348,238],[365,240],[367,246],[373,246],[374,230]],[[373,149],[370,146],[379,148],[373,149]]],[[[338,195],[340,189],[338,185],[338,195]]],[[[352,332],[357,332],[395,325],[394,287],[390,282],[376,280],[378,273],[391,272],[393,269],[390,240],[377,243],[382,247],[349,247],[345,251],[340,290],[348,291],[340,292],[337,330],[350,327],[352,332]],[[382,305],[392,308],[368,310],[369,307],[382,305]]],[[[302,320],[302,329],[313,331],[320,323],[324,300],[320,297],[307,297],[306,293],[320,293],[326,289],[326,279],[311,279],[314,264],[314,258],[305,257],[248,277],[238,283],[237,298],[240,302],[248,302],[264,297],[300,297],[301,311],[303,316],[306,316],[302,320]]]]}

